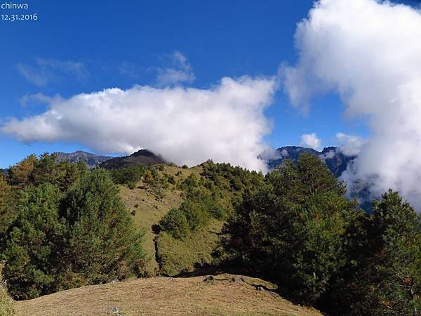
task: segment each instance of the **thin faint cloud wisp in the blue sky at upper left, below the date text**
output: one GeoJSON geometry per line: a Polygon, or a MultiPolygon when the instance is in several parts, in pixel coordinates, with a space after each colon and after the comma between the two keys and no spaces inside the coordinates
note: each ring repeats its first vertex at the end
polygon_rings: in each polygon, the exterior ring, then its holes
{"type": "Polygon", "coordinates": [[[28,65],[20,62],[16,68],[27,81],[35,86],[46,86],[51,81],[58,81],[63,74],[72,75],[79,81],[83,81],[89,76],[83,62],[72,60],[36,58],[34,64],[28,65]]]}

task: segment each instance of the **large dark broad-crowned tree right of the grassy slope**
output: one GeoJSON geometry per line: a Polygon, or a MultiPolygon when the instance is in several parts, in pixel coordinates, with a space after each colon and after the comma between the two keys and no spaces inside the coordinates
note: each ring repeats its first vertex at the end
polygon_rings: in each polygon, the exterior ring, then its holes
{"type": "Polygon", "coordinates": [[[355,206],[318,157],[302,154],[246,192],[225,226],[225,247],[288,295],[315,303],[344,264],[342,235],[355,206]]]}

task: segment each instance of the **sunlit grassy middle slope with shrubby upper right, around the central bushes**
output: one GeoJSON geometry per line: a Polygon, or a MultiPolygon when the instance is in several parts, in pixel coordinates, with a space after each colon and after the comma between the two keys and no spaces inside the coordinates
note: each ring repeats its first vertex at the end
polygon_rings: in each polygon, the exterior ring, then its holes
{"type": "Polygon", "coordinates": [[[170,209],[178,208],[185,201],[192,181],[196,183],[196,189],[213,194],[215,201],[218,200],[220,207],[228,214],[244,188],[250,186],[252,181],[259,181],[261,175],[213,162],[190,169],[163,164],[154,166],[154,169],[157,174],[155,183],[158,185],[144,179],[132,185],[132,188],[121,185],[123,201],[135,223],[145,230],[145,249],[149,256],[145,275],[173,276],[213,263],[211,254],[218,244],[223,219],[212,218],[209,225],[192,231],[183,239],[159,232],[159,220],[170,209]],[[191,180],[192,175],[194,180],[191,180]],[[165,180],[170,178],[171,181],[165,180]],[[164,180],[163,184],[161,180],[164,180]]]}

